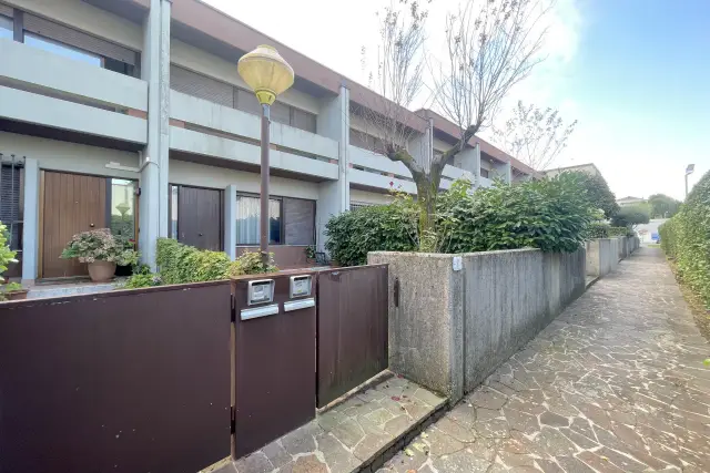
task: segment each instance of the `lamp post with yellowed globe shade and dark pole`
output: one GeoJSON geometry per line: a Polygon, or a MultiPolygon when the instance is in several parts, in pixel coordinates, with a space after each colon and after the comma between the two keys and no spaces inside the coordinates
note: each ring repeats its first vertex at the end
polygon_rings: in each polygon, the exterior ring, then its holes
{"type": "Polygon", "coordinates": [[[260,45],[244,54],[236,65],[240,75],[252,88],[262,105],[262,192],[260,216],[260,251],[264,267],[268,266],[268,128],[271,105],[276,95],[293,85],[293,69],[270,45],[260,45]]]}

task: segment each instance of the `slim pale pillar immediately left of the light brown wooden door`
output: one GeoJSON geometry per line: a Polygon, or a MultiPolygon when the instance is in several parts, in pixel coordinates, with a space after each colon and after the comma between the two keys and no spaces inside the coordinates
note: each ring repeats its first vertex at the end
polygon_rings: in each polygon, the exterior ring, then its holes
{"type": "Polygon", "coordinates": [[[24,226],[22,229],[22,284],[34,284],[38,269],[40,223],[40,165],[24,158],[24,226]]]}

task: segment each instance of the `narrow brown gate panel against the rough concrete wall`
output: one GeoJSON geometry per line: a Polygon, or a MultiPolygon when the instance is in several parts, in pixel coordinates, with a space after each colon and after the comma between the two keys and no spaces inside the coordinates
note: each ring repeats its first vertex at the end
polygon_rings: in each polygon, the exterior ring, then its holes
{"type": "Polygon", "coordinates": [[[385,265],[318,273],[317,405],[387,369],[385,265]]]}

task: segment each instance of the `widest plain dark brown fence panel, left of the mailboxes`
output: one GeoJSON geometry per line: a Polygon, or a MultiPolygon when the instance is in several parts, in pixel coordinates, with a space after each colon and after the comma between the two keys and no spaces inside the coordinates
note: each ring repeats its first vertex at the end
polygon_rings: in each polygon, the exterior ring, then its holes
{"type": "Polygon", "coordinates": [[[0,472],[230,455],[229,281],[0,305],[0,472]]]}

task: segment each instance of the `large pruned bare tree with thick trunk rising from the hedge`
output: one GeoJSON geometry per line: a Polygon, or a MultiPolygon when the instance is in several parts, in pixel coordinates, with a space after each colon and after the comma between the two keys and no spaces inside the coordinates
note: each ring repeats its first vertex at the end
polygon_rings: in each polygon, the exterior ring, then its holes
{"type": "MultiPolygon", "coordinates": [[[[546,0],[545,0],[546,1],[546,0]]],[[[538,0],[468,0],[446,22],[447,63],[432,69],[437,107],[456,125],[457,142],[440,155],[422,158],[409,147],[413,130],[406,111],[423,84],[422,12],[416,1],[400,0],[409,14],[386,10],[382,23],[382,55],[373,88],[389,104],[372,107],[366,121],[377,130],[376,151],[409,169],[417,187],[419,249],[435,246],[434,218],[444,166],[487,126],[510,89],[540,62],[537,53],[547,29],[541,25],[549,8],[538,0]],[[394,21],[393,21],[394,20],[394,21]]],[[[385,101],[383,101],[385,102],[385,101]]],[[[422,127],[422,124],[418,124],[422,127]]]]}

